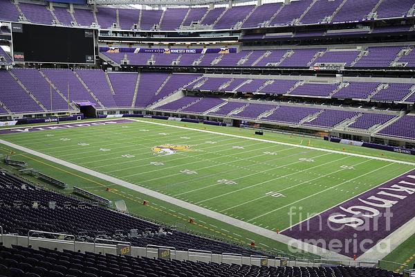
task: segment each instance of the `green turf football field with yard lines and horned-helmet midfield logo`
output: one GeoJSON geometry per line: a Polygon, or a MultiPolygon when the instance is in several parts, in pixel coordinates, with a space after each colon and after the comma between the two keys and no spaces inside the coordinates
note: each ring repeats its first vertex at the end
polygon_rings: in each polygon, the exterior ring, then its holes
{"type": "MultiPolygon", "coordinates": [[[[2,134],[0,139],[270,231],[283,231],[304,220],[307,213],[320,213],[414,169],[411,164],[396,162],[415,162],[409,155],[270,132],[259,138],[269,141],[259,141],[252,132],[147,119],[2,134]],[[306,212],[290,216],[293,207],[306,212]]],[[[10,148],[1,150],[6,154],[10,148]]],[[[244,244],[256,240],[267,249],[284,249],[281,243],[111,181],[81,174],[19,150],[14,157],[71,186],[80,186],[111,200],[124,199],[129,211],[154,220],[179,222],[194,231],[226,236],[244,244]],[[113,190],[107,192],[105,188],[113,190]],[[149,201],[152,211],[143,211],[149,209],[142,205],[144,199],[149,201]],[[188,226],[189,217],[194,217],[195,227],[188,226]]]]}

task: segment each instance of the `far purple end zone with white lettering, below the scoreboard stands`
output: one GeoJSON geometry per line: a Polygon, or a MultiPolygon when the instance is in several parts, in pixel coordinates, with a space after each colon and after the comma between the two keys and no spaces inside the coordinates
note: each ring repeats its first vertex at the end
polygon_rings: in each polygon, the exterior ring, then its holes
{"type": "Polygon", "coordinates": [[[89,122],[89,123],[42,125],[42,126],[33,126],[33,127],[0,129],[0,134],[37,132],[37,131],[47,131],[47,130],[52,130],[52,129],[69,129],[69,128],[75,128],[75,127],[100,126],[100,125],[111,125],[111,124],[130,123],[130,122],[132,121],[129,119],[116,119],[116,120],[95,121],[95,122],[89,122]]]}

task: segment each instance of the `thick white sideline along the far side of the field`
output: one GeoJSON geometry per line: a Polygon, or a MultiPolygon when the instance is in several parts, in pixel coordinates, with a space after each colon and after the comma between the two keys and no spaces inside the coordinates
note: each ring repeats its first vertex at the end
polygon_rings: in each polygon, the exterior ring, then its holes
{"type": "Polygon", "coordinates": [[[236,135],[236,134],[225,134],[225,133],[221,133],[221,132],[208,131],[208,130],[205,130],[205,129],[194,129],[194,128],[190,128],[190,127],[168,125],[168,124],[165,124],[165,123],[157,123],[157,122],[151,122],[151,121],[145,121],[145,120],[138,120],[138,119],[131,119],[131,120],[135,120],[135,121],[140,122],[140,123],[163,125],[163,126],[168,126],[168,127],[173,127],[173,128],[191,129],[191,130],[194,130],[194,131],[197,131],[197,132],[205,132],[205,133],[210,133],[210,134],[219,134],[221,136],[232,136],[232,137],[238,138],[238,139],[248,139],[248,140],[251,140],[251,141],[263,141],[263,142],[266,142],[266,143],[275,143],[275,144],[281,144],[281,145],[288,145],[288,146],[294,146],[294,147],[297,147],[297,148],[319,150],[319,151],[324,151],[324,152],[331,152],[331,153],[336,153],[336,154],[343,154],[343,155],[348,155],[348,156],[354,156],[354,157],[360,157],[360,158],[366,158],[366,159],[375,159],[375,160],[378,160],[378,161],[389,161],[391,163],[402,163],[402,164],[407,164],[409,166],[415,166],[415,163],[412,163],[412,162],[409,162],[409,161],[399,161],[399,160],[394,160],[394,159],[373,157],[373,156],[363,155],[363,154],[348,153],[348,152],[342,152],[342,151],[337,151],[337,150],[329,150],[329,149],[324,149],[324,148],[315,148],[315,147],[306,146],[306,145],[296,145],[296,144],[293,144],[293,143],[282,143],[280,141],[269,141],[269,140],[266,140],[266,139],[250,138],[249,136],[239,136],[239,135],[236,135]]]}

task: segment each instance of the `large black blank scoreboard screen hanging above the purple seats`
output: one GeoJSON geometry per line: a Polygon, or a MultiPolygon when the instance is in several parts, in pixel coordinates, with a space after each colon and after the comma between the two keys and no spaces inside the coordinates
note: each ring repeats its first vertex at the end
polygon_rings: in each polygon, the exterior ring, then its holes
{"type": "Polygon", "coordinates": [[[12,24],[15,62],[95,64],[94,30],[12,24]]]}

